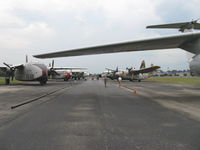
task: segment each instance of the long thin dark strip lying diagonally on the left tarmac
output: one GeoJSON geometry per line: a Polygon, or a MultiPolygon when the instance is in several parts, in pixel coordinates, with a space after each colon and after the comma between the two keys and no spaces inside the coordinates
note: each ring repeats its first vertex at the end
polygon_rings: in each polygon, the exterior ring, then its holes
{"type": "Polygon", "coordinates": [[[20,106],[29,104],[29,103],[34,102],[34,101],[37,101],[37,100],[39,100],[39,99],[41,99],[41,98],[43,98],[43,97],[46,97],[46,96],[51,95],[51,94],[54,94],[54,93],[56,93],[56,92],[58,92],[58,91],[60,91],[60,90],[66,89],[66,88],[70,88],[70,87],[67,86],[67,87],[62,87],[62,88],[56,89],[56,90],[54,90],[54,91],[52,91],[52,92],[46,93],[46,94],[41,95],[41,96],[39,96],[39,97],[35,97],[35,98],[29,99],[29,100],[25,100],[25,101],[22,102],[22,103],[19,103],[19,104],[17,104],[17,105],[11,106],[10,108],[11,108],[11,109],[15,109],[15,108],[17,108],[17,107],[20,107],[20,106]]]}

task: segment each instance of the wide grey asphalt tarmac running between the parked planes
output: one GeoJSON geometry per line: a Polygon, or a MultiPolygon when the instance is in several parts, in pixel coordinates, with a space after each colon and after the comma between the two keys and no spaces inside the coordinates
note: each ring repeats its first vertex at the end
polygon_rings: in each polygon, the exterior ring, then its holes
{"type": "MultiPolygon", "coordinates": [[[[52,81],[46,87],[11,86],[10,94],[8,87],[1,86],[0,105],[4,111],[0,112],[0,149],[199,150],[199,120],[158,102],[160,94],[167,97],[170,91],[179,91],[179,99],[182,94],[181,103],[186,101],[184,91],[197,101],[199,87],[185,86],[183,91],[182,87],[154,82],[123,82],[118,87],[108,82],[105,88],[101,80],[72,85],[52,81]],[[145,91],[145,86],[158,93],[145,91]],[[14,110],[1,105],[10,106],[62,87],[67,88],[14,110]]],[[[179,101],[176,96],[169,97],[169,101],[179,101]]]]}

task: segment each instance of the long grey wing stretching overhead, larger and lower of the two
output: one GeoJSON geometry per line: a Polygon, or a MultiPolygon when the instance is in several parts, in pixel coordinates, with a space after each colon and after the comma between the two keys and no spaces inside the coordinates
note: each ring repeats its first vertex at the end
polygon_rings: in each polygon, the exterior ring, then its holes
{"type": "Polygon", "coordinates": [[[80,55],[93,55],[93,54],[131,52],[131,51],[169,49],[169,48],[182,48],[192,53],[199,53],[198,52],[199,49],[194,50],[191,49],[190,47],[191,42],[197,42],[197,39],[199,38],[200,38],[199,32],[184,33],[173,36],[165,36],[159,38],[46,53],[46,54],[34,55],[34,57],[37,58],[70,57],[70,56],[80,56],[80,55]]]}

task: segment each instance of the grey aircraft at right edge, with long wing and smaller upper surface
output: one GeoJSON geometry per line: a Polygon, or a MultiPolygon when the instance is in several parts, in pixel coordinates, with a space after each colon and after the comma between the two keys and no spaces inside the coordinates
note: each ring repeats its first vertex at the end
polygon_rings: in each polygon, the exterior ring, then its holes
{"type": "MultiPolygon", "coordinates": [[[[156,26],[159,26],[159,28],[179,28],[179,31],[182,32],[190,31],[192,29],[200,29],[200,24],[197,23],[197,20],[192,22],[165,24],[165,27],[162,27],[161,25],[156,26]]],[[[149,26],[148,28],[156,28],[156,26],[149,26]]],[[[189,62],[190,71],[192,75],[200,76],[200,32],[190,32],[159,38],[65,50],[60,52],[34,55],[34,57],[54,58],[172,48],[180,48],[193,53],[195,56],[189,62]]]]}

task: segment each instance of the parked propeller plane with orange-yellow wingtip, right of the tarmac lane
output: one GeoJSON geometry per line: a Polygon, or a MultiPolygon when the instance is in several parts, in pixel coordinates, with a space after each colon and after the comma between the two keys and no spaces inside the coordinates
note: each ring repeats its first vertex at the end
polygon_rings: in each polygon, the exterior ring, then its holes
{"type": "Polygon", "coordinates": [[[111,71],[111,73],[107,74],[107,77],[110,79],[118,79],[119,77],[121,77],[123,80],[137,80],[138,82],[140,82],[141,80],[151,77],[152,72],[159,68],[160,66],[153,65],[146,68],[145,61],[143,60],[139,70],[136,70],[134,67],[126,68],[126,70],[119,70],[118,67],[116,70],[108,68],[106,69],[111,71]]]}

